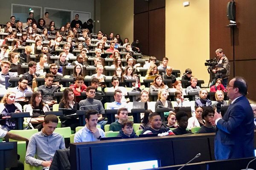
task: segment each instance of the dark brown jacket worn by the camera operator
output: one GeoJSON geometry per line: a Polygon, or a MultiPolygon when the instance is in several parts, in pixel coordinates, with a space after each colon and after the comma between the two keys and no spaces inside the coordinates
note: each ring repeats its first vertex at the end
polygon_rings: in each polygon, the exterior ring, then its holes
{"type": "MultiPolygon", "coordinates": [[[[220,59],[218,59],[219,62],[220,59]]],[[[223,55],[221,67],[218,65],[217,77],[221,79],[226,79],[230,76],[230,62],[225,56],[223,55]]]]}

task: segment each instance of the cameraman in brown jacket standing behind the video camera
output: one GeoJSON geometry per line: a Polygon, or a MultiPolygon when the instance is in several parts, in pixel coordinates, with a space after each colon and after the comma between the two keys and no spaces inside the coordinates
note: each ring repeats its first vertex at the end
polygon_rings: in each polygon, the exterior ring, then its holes
{"type": "Polygon", "coordinates": [[[223,50],[221,48],[218,48],[215,51],[217,57],[218,57],[218,65],[217,67],[212,70],[214,74],[217,74],[215,79],[212,81],[210,87],[215,84],[215,80],[218,78],[221,78],[223,81],[223,85],[226,88],[227,87],[227,80],[230,76],[230,63],[225,54],[223,54],[223,50]]]}

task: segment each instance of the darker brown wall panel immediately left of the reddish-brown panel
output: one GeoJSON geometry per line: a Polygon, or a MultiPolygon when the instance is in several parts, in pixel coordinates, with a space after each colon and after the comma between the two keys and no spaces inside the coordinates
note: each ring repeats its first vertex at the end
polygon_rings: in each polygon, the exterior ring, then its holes
{"type": "MultiPolygon", "coordinates": [[[[148,11],[134,14],[134,40],[138,38],[142,44],[143,54],[148,55],[148,11]]],[[[130,43],[133,40],[129,40],[130,43]]]]}

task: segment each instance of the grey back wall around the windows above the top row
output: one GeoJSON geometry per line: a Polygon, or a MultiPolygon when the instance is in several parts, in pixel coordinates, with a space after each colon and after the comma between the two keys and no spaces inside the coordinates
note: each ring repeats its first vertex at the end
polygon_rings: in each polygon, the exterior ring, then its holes
{"type": "MultiPolygon", "coordinates": [[[[3,0],[1,0],[3,1],[3,0]]],[[[90,12],[94,20],[94,0],[4,0],[0,5],[0,23],[10,21],[12,3],[20,5],[31,5],[42,7],[42,17],[44,8],[59,8],[71,11],[90,12]]],[[[82,21],[84,23],[84,21],[82,21]]]]}

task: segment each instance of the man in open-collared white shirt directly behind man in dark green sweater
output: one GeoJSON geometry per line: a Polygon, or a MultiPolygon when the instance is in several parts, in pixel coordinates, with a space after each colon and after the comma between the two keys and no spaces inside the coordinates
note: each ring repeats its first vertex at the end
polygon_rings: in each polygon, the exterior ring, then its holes
{"type": "Polygon", "coordinates": [[[117,89],[114,91],[114,102],[111,102],[108,105],[108,109],[119,109],[119,108],[128,108],[126,102],[122,101],[122,91],[117,89]]]}

